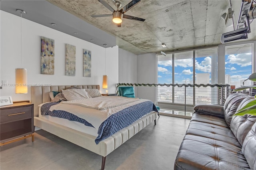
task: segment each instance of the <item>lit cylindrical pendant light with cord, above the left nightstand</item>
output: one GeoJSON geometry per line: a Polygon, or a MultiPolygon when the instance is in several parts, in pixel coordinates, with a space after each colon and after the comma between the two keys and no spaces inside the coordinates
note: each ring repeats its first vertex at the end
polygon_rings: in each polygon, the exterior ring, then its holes
{"type": "Polygon", "coordinates": [[[28,71],[22,68],[22,13],[26,14],[26,11],[16,11],[20,12],[20,68],[15,69],[16,94],[25,94],[28,93],[28,71]]]}

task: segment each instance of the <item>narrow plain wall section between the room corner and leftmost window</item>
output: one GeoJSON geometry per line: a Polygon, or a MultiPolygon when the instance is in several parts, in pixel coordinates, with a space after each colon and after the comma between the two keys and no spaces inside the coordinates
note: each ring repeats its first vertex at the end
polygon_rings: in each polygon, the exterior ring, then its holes
{"type": "MultiPolygon", "coordinates": [[[[137,57],[137,83],[156,83],[156,53],[138,55],[137,57]]],[[[156,102],[156,87],[137,87],[137,97],[156,102]]]]}

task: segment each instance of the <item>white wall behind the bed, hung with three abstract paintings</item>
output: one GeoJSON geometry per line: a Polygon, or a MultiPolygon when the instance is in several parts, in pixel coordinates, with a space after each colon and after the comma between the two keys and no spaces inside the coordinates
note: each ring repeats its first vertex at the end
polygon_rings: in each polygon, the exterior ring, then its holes
{"type": "MultiPolygon", "coordinates": [[[[0,80],[15,83],[15,69],[20,68],[20,17],[0,11],[0,80]]],[[[106,74],[109,93],[118,83],[118,46],[106,49],[106,74]]],[[[22,68],[28,70],[28,84],[94,85],[102,87],[105,74],[105,49],[90,42],[42,26],[22,18],[22,68]],[[41,36],[55,43],[54,75],[40,74],[41,36]],[[65,75],[65,43],[76,46],[76,76],[65,75]],[[92,51],[92,75],[83,77],[83,51],[92,51]]],[[[105,89],[101,89],[105,93],[105,89]]],[[[12,96],[13,101],[30,100],[28,94],[15,94],[15,87],[2,87],[0,96],[12,96]]]]}

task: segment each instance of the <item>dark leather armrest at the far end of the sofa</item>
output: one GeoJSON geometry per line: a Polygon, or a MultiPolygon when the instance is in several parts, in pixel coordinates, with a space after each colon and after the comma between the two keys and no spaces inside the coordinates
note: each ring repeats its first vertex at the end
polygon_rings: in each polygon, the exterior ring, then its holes
{"type": "Polygon", "coordinates": [[[224,107],[223,105],[196,105],[194,107],[194,113],[224,118],[224,107]]]}

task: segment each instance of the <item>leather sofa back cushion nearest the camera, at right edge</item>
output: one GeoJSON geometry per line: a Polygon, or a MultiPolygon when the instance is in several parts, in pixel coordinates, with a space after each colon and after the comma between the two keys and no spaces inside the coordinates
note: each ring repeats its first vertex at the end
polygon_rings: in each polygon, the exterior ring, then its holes
{"type": "Polygon", "coordinates": [[[256,170],[256,123],[244,139],[242,152],[252,170],[256,170]]]}

